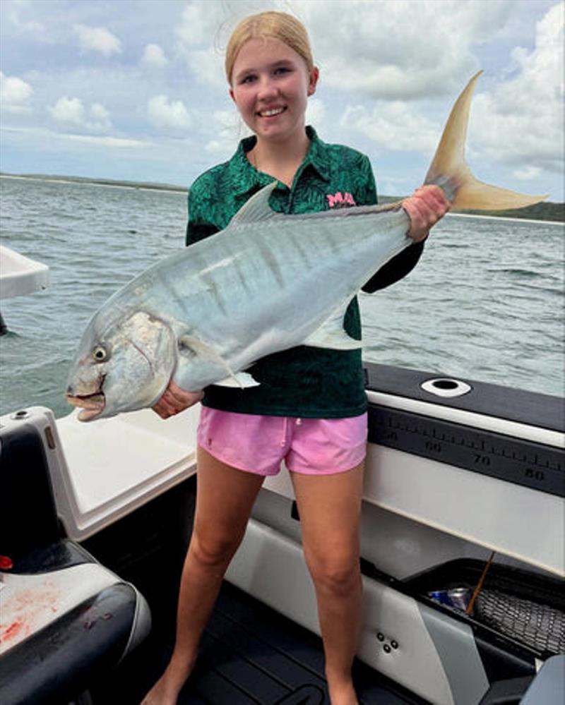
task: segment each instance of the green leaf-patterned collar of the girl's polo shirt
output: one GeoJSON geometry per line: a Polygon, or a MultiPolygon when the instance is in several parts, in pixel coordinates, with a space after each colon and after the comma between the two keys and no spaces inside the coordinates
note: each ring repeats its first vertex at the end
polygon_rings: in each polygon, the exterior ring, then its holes
{"type": "MultiPolygon", "coordinates": [[[[318,137],[313,127],[308,125],[306,133],[310,140],[310,146],[304,161],[299,167],[299,171],[302,172],[307,168],[311,168],[316,171],[323,181],[329,181],[328,147],[318,137]]],[[[258,188],[266,186],[273,181],[268,174],[257,171],[246,157],[246,152],[249,152],[254,147],[256,141],[255,135],[241,140],[237,147],[237,152],[230,159],[230,174],[232,175],[232,183],[237,195],[256,191],[258,188]]]]}

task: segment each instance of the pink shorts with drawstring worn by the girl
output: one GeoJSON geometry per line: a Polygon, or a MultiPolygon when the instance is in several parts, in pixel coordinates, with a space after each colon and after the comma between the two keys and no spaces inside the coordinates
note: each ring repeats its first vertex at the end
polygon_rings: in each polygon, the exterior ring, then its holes
{"type": "Polygon", "coordinates": [[[203,406],[198,445],[221,462],[258,475],[287,468],[332,475],[359,465],[367,454],[367,414],[352,418],[294,418],[218,411],[203,406]]]}

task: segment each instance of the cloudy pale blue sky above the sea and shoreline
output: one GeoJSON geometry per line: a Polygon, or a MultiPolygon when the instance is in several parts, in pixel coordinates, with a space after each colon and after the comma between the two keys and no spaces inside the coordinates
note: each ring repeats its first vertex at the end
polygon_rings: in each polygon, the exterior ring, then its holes
{"type": "Polygon", "coordinates": [[[380,193],[427,170],[482,68],[468,161],[484,181],[564,200],[564,17],[555,0],[0,0],[0,169],[187,186],[246,134],[222,50],[279,8],[321,70],[307,119],[371,158],[380,193]]]}

